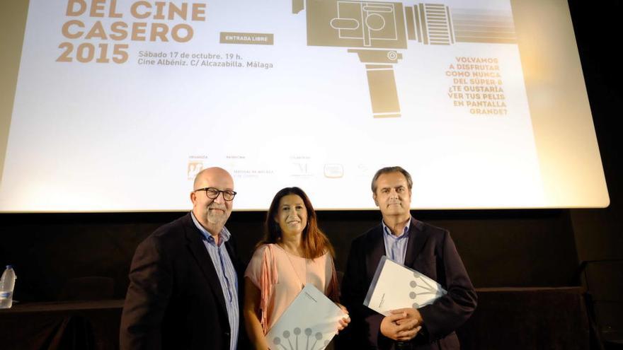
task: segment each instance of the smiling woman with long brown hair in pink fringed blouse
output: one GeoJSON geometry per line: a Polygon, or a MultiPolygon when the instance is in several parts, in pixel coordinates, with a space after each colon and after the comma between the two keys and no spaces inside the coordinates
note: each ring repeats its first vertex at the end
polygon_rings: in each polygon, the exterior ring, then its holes
{"type": "MultiPolygon", "coordinates": [[[[316,211],[299,187],[281,189],[270,204],[265,235],[244,274],[244,320],[256,349],[269,349],[264,335],[305,284],[338,301],[333,247],[316,223],[316,211]]],[[[348,315],[348,311],[338,304],[348,315]]],[[[338,331],[350,322],[336,325],[338,331]]]]}

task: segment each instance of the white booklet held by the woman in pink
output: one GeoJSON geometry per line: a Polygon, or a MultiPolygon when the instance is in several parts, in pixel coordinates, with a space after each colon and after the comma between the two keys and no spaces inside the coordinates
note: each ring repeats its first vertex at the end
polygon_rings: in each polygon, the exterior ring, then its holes
{"type": "Polygon", "coordinates": [[[272,350],[324,349],[345,318],[338,305],[307,284],[265,335],[272,350]]]}

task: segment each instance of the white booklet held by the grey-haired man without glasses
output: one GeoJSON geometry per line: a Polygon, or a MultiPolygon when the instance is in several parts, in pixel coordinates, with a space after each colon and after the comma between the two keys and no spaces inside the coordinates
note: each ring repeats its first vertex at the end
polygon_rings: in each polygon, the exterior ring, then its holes
{"type": "Polygon", "coordinates": [[[446,293],[434,279],[383,256],[363,305],[388,316],[391,310],[432,304],[446,293]]]}

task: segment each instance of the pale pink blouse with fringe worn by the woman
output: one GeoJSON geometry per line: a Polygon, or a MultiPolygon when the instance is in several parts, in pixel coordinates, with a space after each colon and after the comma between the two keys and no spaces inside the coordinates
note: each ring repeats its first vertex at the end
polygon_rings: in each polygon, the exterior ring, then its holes
{"type": "Polygon", "coordinates": [[[311,283],[326,294],[333,270],[333,259],[328,252],[316,259],[305,259],[276,244],[258,247],[244,276],[261,292],[260,321],[264,334],[275,325],[304,284],[311,283]]]}

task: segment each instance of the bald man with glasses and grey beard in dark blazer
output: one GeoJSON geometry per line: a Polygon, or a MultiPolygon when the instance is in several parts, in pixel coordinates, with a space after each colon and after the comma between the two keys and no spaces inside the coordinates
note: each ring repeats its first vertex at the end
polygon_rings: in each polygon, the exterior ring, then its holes
{"type": "Polygon", "coordinates": [[[193,210],[137,247],[121,349],[244,349],[238,293],[244,266],[224,227],[235,195],[226,170],[202,170],[190,193],[193,210]]]}

